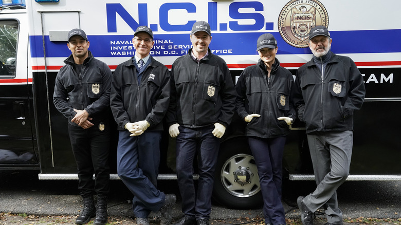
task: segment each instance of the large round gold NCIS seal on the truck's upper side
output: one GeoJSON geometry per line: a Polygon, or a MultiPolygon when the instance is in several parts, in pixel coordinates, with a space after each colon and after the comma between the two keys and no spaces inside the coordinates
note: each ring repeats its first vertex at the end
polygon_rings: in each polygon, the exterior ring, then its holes
{"type": "Polygon", "coordinates": [[[312,28],[319,25],[329,27],[329,15],[317,0],[291,0],[281,10],[277,24],[285,42],[306,48],[312,28]]]}

